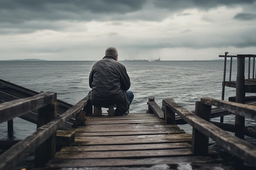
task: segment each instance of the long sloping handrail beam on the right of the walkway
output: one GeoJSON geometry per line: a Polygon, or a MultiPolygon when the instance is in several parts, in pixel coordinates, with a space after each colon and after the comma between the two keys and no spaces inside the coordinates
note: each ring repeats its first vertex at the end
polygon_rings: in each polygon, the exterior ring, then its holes
{"type": "Polygon", "coordinates": [[[210,137],[211,139],[216,141],[217,144],[219,144],[226,150],[229,150],[230,152],[234,153],[234,155],[236,155],[240,159],[243,159],[245,162],[250,163],[253,166],[256,166],[256,146],[254,146],[253,144],[250,144],[242,139],[239,139],[238,137],[231,135],[225,130],[222,130],[221,128],[218,128],[217,126],[211,124],[209,121],[206,121],[198,117],[191,111],[175,103],[173,99],[164,99],[163,106],[165,106],[166,109],[169,109],[174,113],[180,115],[180,117],[182,117],[186,122],[193,126],[193,128],[197,129],[205,136],[210,137]]]}

